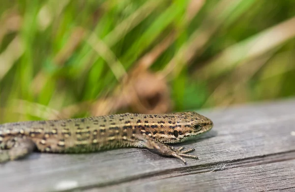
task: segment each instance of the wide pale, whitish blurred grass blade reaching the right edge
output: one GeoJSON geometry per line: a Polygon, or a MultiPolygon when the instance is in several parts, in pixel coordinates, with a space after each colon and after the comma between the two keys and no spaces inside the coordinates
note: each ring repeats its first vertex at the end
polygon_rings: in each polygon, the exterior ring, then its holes
{"type": "Polygon", "coordinates": [[[259,56],[295,37],[295,17],[268,28],[220,53],[204,68],[195,72],[201,79],[216,78],[236,67],[239,62],[259,56]]]}

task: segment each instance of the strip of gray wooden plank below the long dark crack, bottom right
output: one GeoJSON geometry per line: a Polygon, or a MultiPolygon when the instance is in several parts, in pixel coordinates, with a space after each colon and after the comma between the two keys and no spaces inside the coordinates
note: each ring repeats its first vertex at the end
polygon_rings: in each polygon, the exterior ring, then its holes
{"type": "MultiPolygon", "coordinates": [[[[226,167],[226,165],[224,165],[226,167]]],[[[154,178],[155,179],[155,178],[154,178]]],[[[137,180],[130,184],[86,192],[294,192],[295,160],[253,167],[226,168],[218,172],[188,174],[165,179],[137,180]]]]}

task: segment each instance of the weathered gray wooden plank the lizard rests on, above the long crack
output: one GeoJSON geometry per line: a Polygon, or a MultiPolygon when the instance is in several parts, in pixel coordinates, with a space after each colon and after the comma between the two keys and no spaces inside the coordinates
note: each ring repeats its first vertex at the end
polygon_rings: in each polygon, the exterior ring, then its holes
{"type": "Polygon", "coordinates": [[[201,112],[213,120],[214,127],[199,140],[175,145],[196,149],[192,154],[199,160],[187,159],[186,166],[175,158],[139,148],[89,154],[34,153],[22,161],[0,165],[0,186],[6,192],[120,189],[141,180],[175,177],[181,183],[188,174],[213,171],[214,177],[226,174],[228,167],[280,164],[295,159],[294,109],[293,99],[201,112]]]}

